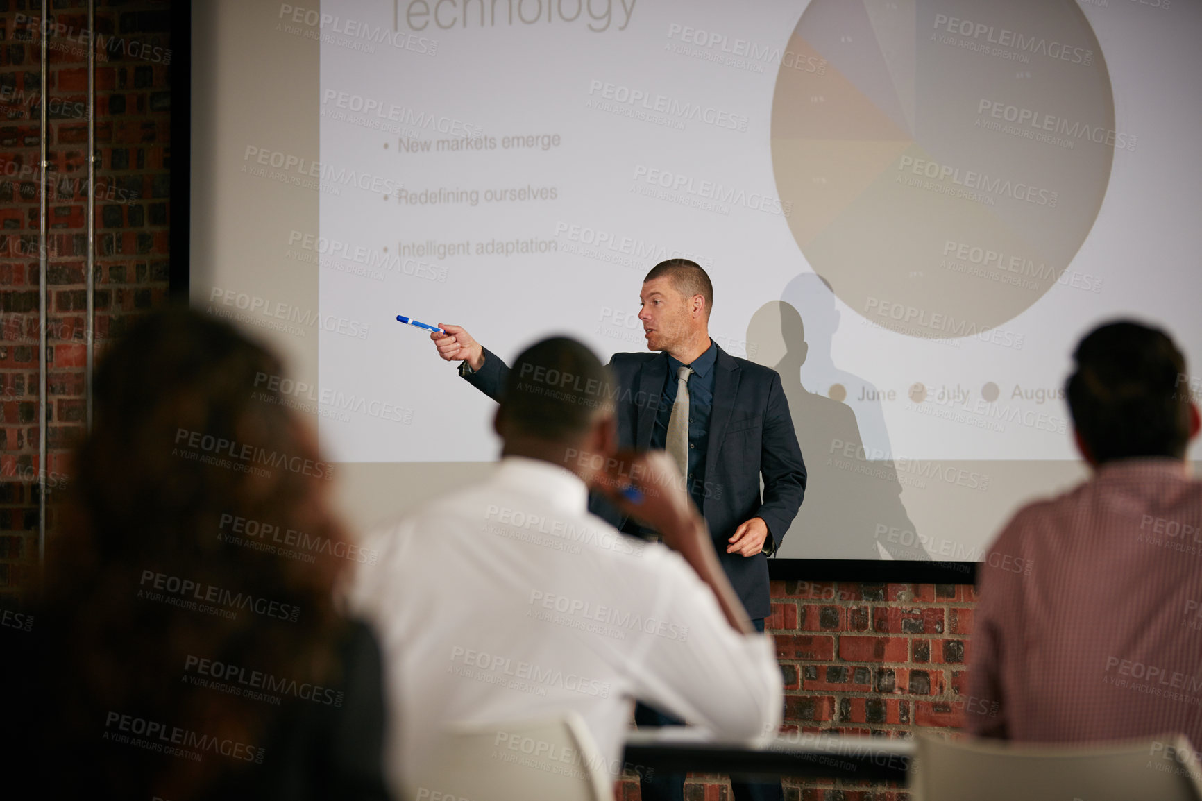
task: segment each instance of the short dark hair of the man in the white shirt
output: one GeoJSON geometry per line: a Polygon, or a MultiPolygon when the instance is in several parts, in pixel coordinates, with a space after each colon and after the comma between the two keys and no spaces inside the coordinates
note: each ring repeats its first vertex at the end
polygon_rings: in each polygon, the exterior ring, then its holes
{"type": "Polygon", "coordinates": [[[505,380],[501,421],[514,433],[564,441],[588,432],[617,385],[591,350],[567,337],[526,348],[505,380]]]}

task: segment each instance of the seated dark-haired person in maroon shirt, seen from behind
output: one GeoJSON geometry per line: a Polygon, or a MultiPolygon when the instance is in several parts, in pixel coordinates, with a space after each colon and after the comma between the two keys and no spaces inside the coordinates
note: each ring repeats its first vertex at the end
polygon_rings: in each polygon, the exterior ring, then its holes
{"type": "Polygon", "coordinates": [[[965,729],[1031,742],[1184,732],[1202,746],[1202,481],[1185,360],[1114,322],[1066,396],[1091,477],[1022,509],[981,565],[965,729]]]}

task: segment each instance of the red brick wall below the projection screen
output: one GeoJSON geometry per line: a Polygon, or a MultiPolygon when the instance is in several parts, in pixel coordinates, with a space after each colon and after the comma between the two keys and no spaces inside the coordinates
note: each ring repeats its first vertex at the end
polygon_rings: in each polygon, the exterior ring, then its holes
{"type": "MultiPolygon", "coordinates": [[[[785,729],[897,737],[959,728],[976,601],[971,585],[772,582],[785,675],[785,729]]],[[[903,801],[887,783],[786,778],[787,801],[903,801]]],[[[624,782],[623,801],[638,797],[624,782]]],[[[732,801],[722,777],[694,775],[688,801],[732,801]]]]}

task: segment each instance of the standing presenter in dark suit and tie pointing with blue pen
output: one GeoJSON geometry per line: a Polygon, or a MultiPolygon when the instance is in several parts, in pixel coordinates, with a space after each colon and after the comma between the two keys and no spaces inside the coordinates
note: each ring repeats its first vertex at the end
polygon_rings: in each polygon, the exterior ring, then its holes
{"type": "MultiPolygon", "coordinates": [[[[660,352],[614,354],[609,369],[618,386],[601,391],[614,399],[620,447],[662,449],[677,459],[722,568],[762,631],[772,613],[766,556],[780,546],[802,504],[805,463],[780,375],[730,356],[709,338],[713,298],[709,277],[695,262],[670,259],[651,268],[638,318],[648,350],[660,352]]],[[[498,399],[505,362],[460,326],[439,327],[444,334],[430,334],[439,355],[462,362],[459,374],[498,399]]],[[[589,511],[620,530],[653,534],[597,493],[589,511]]],[[[654,718],[647,708],[636,713],[639,723],[654,718]]],[[[682,797],[683,777],[672,783],[672,795],[682,797]]],[[[755,785],[750,794],[740,784],[734,790],[736,799],[780,797],[779,783],[755,785]]],[[[644,784],[644,797],[656,795],[644,784]]]]}

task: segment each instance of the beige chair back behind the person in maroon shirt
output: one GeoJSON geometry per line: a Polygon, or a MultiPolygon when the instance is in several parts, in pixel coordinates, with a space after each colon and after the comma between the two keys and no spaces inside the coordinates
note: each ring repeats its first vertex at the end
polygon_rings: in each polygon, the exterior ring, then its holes
{"type": "Polygon", "coordinates": [[[914,801],[1202,801],[1184,735],[1091,743],[1007,743],[916,735],[914,801]]]}

